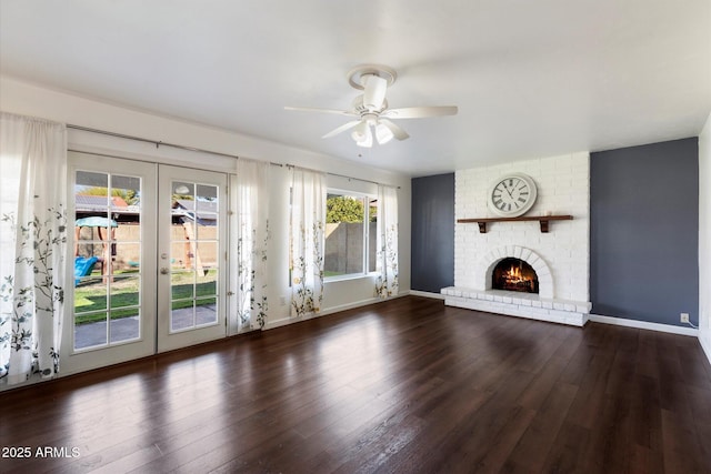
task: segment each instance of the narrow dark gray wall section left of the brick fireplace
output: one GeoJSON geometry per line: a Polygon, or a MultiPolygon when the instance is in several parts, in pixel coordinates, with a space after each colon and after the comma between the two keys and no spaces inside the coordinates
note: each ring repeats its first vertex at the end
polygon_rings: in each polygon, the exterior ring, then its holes
{"type": "Polygon", "coordinates": [[[412,179],[412,290],[454,284],[454,173],[412,179]]]}

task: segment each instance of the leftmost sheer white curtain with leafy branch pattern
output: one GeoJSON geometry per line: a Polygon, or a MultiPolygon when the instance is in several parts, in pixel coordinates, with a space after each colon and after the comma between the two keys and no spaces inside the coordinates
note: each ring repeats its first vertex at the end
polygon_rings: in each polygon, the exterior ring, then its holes
{"type": "Polygon", "coordinates": [[[67,259],[67,129],[0,114],[0,377],[59,371],[67,259]]]}

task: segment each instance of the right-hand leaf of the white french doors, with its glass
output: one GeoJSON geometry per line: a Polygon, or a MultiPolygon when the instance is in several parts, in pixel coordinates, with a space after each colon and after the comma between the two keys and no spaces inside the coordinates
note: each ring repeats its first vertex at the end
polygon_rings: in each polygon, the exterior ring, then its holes
{"type": "Polygon", "coordinates": [[[161,165],[158,351],[224,337],[227,175],[161,165]]]}

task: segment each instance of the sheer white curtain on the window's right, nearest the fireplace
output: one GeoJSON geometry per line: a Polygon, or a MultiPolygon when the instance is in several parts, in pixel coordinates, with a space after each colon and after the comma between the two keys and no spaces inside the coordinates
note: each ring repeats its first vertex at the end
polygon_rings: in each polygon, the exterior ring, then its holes
{"type": "Polygon", "coordinates": [[[375,254],[375,295],[398,294],[398,190],[378,185],[378,252],[375,254]]]}

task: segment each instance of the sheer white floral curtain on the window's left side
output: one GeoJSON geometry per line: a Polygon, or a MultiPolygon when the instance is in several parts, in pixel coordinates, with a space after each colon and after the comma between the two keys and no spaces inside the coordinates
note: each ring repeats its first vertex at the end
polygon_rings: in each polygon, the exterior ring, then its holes
{"type": "Polygon", "coordinates": [[[323,300],[326,185],[322,173],[293,169],[291,182],[291,315],[318,313],[323,300]]]}

